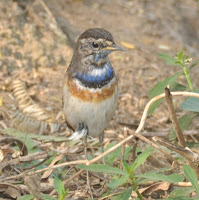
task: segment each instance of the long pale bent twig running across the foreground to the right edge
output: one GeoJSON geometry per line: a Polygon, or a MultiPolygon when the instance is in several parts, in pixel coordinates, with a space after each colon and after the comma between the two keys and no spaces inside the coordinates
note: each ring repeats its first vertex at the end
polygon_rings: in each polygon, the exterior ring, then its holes
{"type": "MultiPolygon", "coordinates": [[[[199,94],[198,93],[194,93],[194,92],[171,92],[171,94],[173,96],[191,96],[191,97],[196,97],[196,98],[199,98],[199,94]]],[[[145,106],[145,109],[144,109],[144,112],[143,112],[143,115],[142,115],[142,118],[141,118],[141,121],[140,121],[140,124],[137,128],[137,130],[135,131],[135,136],[136,137],[139,137],[141,140],[153,145],[154,143],[151,142],[150,140],[146,140],[146,138],[140,134],[138,134],[144,127],[144,124],[145,124],[145,121],[146,121],[146,118],[147,118],[147,114],[148,114],[148,111],[149,111],[149,108],[151,107],[151,105],[153,103],[155,103],[157,100],[161,99],[165,97],[165,94],[160,94],[156,97],[154,97],[153,99],[151,99],[147,105],[145,106]]],[[[133,133],[132,131],[130,131],[130,133],[133,133]]],[[[16,176],[10,176],[10,177],[6,177],[6,178],[3,178],[1,179],[0,181],[6,181],[6,180],[11,180],[11,179],[18,179],[18,178],[21,178],[23,177],[25,174],[26,175],[32,175],[32,174],[35,174],[35,173],[41,173],[41,172],[44,172],[46,170],[49,170],[49,169],[57,169],[57,168],[60,168],[60,167],[64,167],[64,166],[68,166],[68,165],[79,165],[79,164],[86,164],[86,165],[91,165],[95,162],[97,162],[98,160],[102,159],[104,156],[106,156],[107,154],[113,152],[114,150],[116,150],[118,147],[122,146],[123,144],[127,143],[128,141],[130,141],[132,138],[134,137],[134,135],[130,135],[128,136],[127,138],[125,138],[123,141],[119,142],[118,144],[116,144],[115,146],[111,147],[110,149],[108,149],[107,151],[105,151],[104,153],[102,153],[101,155],[95,157],[94,159],[92,160],[78,160],[78,161],[71,161],[71,162],[65,162],[65,163],[62,163],[62,164],[58,164],[58,165],[55,165],[55,166],[52,166],[52,167],[46,167],[46,168],[43,168],[43,169],[40,169],[40,170],[37,170],[35,172],[23,172],[22,174],[18,174],[16,176]]],[[[158,145],[153,145],[155,148],[158,148],[159,150],[161,149],[158,145]]],[[[162,150],[162,149],[161,149],[162,150]]],[[[163,153],[165,153],[164,151],[162,151],[163,153]]]]}

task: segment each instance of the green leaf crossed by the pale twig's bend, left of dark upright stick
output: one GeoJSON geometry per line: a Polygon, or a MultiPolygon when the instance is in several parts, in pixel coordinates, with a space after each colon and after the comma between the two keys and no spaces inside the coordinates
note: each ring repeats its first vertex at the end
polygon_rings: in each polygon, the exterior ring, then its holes
{"type": "MultiPolygon", "coordinates": [[[[178,72],[176,74],[174,74],[173,76],[170,76],[166,79],[164,79],[163,81],[158,82],[150,91],[149,91],[149,95],[150,95],[150,99],[152,99],[153,97],[164,93],[164,89],[168,86],[168,85],[173,85],[176,82],[176,79],[182,74],[183,72],[178,72]]],[[[170,87],[170,89],[172,89],[170,87]]],[[[156,101],[152,107],[149,109],[149,115],[151,115],[154,110],[159,106],[159,104],[163,101],[163,99],[160,99],[158,101],[156,101]]]]}

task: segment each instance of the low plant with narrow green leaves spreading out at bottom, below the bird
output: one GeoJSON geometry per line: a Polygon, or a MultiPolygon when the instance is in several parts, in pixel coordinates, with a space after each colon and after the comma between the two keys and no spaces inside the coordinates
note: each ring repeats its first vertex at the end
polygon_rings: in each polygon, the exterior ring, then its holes
{"type": "MultiPolygon", "coordinates": [[[[152,149],[147,148],[131,164],[123,160],[124,169],[120,169],[120,167],[112,167],[110,165],[101,165],[101,164],[92,164],[91,166],[80,165],[79,168],[89,170],[92,172],[101,172],[101,173],[109,174],[110,182],[107,184],[107,186],[111,191],[116,190],[120,186],[125,186],[126,189],[123,192],[121,192],[119,195],[117,194],[113,197],[110,197],[110,199],[127,200],[131,196],[132,191],[135,191],[137,194],[137,199],[142,200],[144,198],[139,191],[139,187],[142,183],[147,182],[147,181],[154,181],[154,182],[166,181],[169,183],[177,183],[177,182],[183,181],[184,179],[182,175],[177,174],[177,173],[164,175],[163,172],[169,171],[170,170],[169,168],[149,171],[145,174],[135,173],[135,170],[146,161],[146,159],[148,158],[148,156],[150,156],[151,153],[152,153],[152,149]]],[[[111,154],[115,154],[115,152],[111,152],[108,155],[109,158],[112,157],[111,154]]],[[[129,160],[129,158],[126,157],[126,160],[129,160]]],[[[112,162],[114,162],[114,160],[112,160],[112,162]]],[[[113,165],[113,163],[111,165],[113,165]]]]}

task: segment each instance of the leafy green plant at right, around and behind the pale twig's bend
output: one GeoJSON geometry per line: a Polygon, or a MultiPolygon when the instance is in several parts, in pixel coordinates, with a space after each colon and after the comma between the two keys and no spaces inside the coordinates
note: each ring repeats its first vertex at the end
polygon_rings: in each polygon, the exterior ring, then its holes
{"type": "MultiPolygon", "coordinates": [[[[190,72],[193,67],[199,64],[199,59],[195,62],[192,62],[192,58],[189,56],[185,56],[183,52],[178,52],[175,57],[171,57],[168,54],[159,54],[159,56],[166,61],[168,65],[177,65],[181,68],[180,72],[164,79],[163,81],[158,82],[149,92],[150,98],[153,98],[161,93],[164,93],[164,89],[169,85],[169,89],[171,91],[194,91],[198,92],[197,89],[193,87],[190,72]],[[185,76],[187,81],[187,86],[178,83],[177,79],[179,76],[185,76]]],[[[159,106],[159,104],[163,101],[163,99],[158,100],[156,103],[152,105],[149,110],[149,115],[151,115],[154,110],[159,106]]],[[[189,97],[185,100],[180,108],[186,111],[193,111],[194,113],[186,114],[179,118],[179,124],[181,129],[186,130],[192,119],[199,114],[199,99],[194,97],[189,97]]],[[[170,132],[170,139],[175,139],[175,131],[172,129],[170,132]]]]}

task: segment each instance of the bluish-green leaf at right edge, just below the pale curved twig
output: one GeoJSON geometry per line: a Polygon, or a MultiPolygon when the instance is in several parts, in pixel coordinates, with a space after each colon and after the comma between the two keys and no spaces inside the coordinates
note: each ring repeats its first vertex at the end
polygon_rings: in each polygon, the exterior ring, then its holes
{"type": "MultiPolygon", "coordinates": [[[[196,92],[199,93],[199,90],[196,92]]],[[[182,110],[199,112],[199,98],[189,97],[180,105],[180,108],[182,110]]]]}

